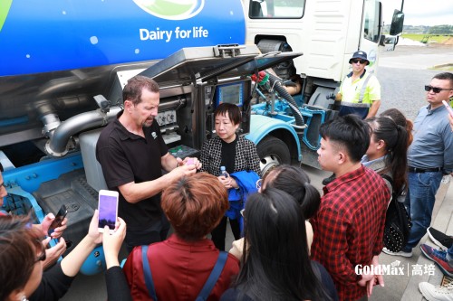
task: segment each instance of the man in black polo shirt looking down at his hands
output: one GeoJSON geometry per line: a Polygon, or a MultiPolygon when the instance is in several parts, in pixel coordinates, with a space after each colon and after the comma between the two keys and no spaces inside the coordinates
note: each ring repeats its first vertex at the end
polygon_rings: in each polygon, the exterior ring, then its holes
{"type": "Polygon", "coordinates": [[[165,240],[169,222],[160,208],[160,192],[169,183],[201,167],[197,158],[186,165],[169,154],[160,135],[159,86],[144,76],[130,79],[122,91],[124,110],[105,127],[96,146],[110,190],[120,193],[119,215],[126,221],[126,247],[165,240]],[[162,169],[169,172],[162,175],[162,169]]]}

